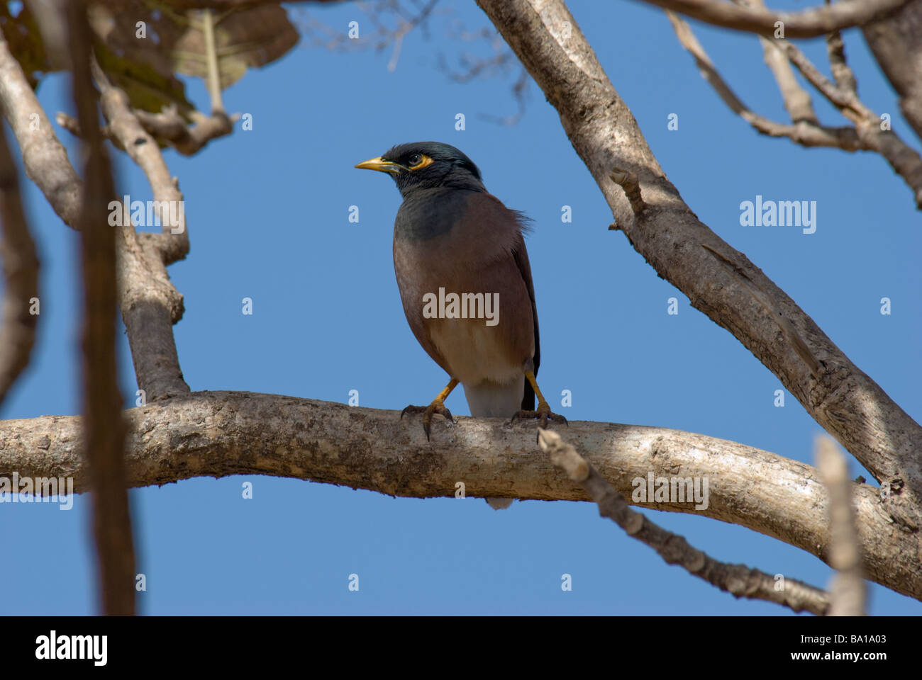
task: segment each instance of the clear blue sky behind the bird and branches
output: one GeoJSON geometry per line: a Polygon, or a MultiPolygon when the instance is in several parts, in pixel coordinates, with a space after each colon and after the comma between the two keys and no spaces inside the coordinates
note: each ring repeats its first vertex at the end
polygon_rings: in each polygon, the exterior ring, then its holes
{"type": "MultiPolygon", "coordinates": [[[[756,135],[698,75],[660,10],[624,0],[569,5],[691,209],[918,420],[922,236],[904,182],[878,156],[756,135]],[[677,131],[667,128],[671,113],[677,131]],[[757,194],[816,201],[816,232],[740,226],[739,204],[757,194]],[[881,315],[882,297],[892,299],[892,314],[881,315]]],[[[571,420],[701,432],[812,463],[822,429],[788,393],[775,407],[774,391],[783,388],[774,375],[691,309],[621,232],[608,230],[609,208],[538,88],[529,81],[516,125],[485,119],[516,111],[517,65],[467,84],[439,70],[440,53],[456,64],[461,51],[475,49],[445,38],[452,22],[489,24],[473,3],[440,7],[450,15],[431,19],[429,41],[420,31],[408,36],[395,71],[387,70],[389,51],[302,43],[225,92],[229,111],[252,114],[252,131],[238,127],[194,158],[167,152],[192,243],[170,268],[185,298],[174,330],[192,389],[342,403],[354,389],[362,406],[397,411],[442,389],[443,370],[410,333],[396,287],[391,240],[400,196],[384,175],[352,167],[396,143],[433,139],[461,148],[491,193],[534,219],[527,243],[541,324],[539,382],[552,405],[562,390],[573,393],[573,406],[556,410],[571,420]],[[466,116],[464,131],[455,130],[457,113],[466,116]],[[358,224],[349,222],[350,205],[360,208],[358,224]],[[562,205],[572,206],[572,223],[561,222],[562,205]],[[242,314],[244,297],[254,300],[252,315],[242,314]],[[678,315],[667,314],[671,297],[678,315]]],[[[351,20],[371,29],[351,3],[311,14],[337,29],[351,20]]],[[[692,26],[740,98],[786,121],[758,41],[692,26]]],[[[800,44],[825,64],[822,40],[800,44]]],[[[856,30],[846,31],[845,45],[863,100],[891,113],[894,130],[913,143],[856,30]]],[[[200,82],[190,80],[188,93],[207,107],[200,82]]],[[[61,76],[48,77],[39,95],[52,118],[73,111],[61,76]]],[[[845,124],[822,100],[814,105],[824,123],[845,124]]],[[[73,138],[57,132],[78,158],[73,138]]],[[[150,197],[124,155],[118,170],[121,193],[150,197]]],[[[32,364],[0,417],[75,414],[78,242],[24,183],[43,266],[41,324],[32,364]]],[[[119,341],[129,405],[136,381],[124,335],[119,341]]],[[[460,390],[447,405],[467,415],[460,390]]],[[[870,478],[849,461],[853,476],[870,478]]],[[[130,498],[138,569],[148,582],[139,609],[149,615],[788,614],[669,567],[590,503],[526,501],[495,512],[479,498],[389,498],[264,476],[193,479],[135,489],[130,498]],[[252,499],[242,499],[245,481],[253,482],[252,499]],[[349,592],[352,573],[359,592],[349,592]],[[572,592],[561,591],[564,573],[572,592]]],[[[819,586],[830,579],[819,559],[762,534],[648,514],[717,559],[819,586]]],[[[0,566],[10,586],[0,613],[97,611],[89,519],[86,497],[69,511],[0,507],[0,534],[15,546],[0,566]]],[[[873,586],[870,612],[918,615],[922,605],[873,586]]]]}

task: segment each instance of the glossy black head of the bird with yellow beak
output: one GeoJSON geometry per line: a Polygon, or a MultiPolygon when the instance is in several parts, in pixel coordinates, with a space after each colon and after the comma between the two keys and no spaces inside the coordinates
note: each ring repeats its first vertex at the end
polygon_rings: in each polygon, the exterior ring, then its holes
{"type": "Polygon", "coordinates": [[[365,160],[356,168],[389,172],[404,196],[414,189],[443,186],[486,191],[474,161],[441,142],[398,144],[383,156],[365,160]]]}

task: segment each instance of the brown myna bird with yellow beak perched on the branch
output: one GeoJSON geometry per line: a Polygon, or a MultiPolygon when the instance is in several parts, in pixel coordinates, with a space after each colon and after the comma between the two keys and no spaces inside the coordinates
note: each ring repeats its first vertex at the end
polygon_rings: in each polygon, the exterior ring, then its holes
{"type": "Polygon", "coordinates": [[[416,339],[451,378],[431,404],[407,406],[401,417],[421,413],[429,439],[434,414],[454,422],[444,401],[460,382],[471,416],[565,423],[536,381],[541,353],[527,218],[488,193],[473,161],[447,144],[401,144],[356,168],[389,173],[403,195],[394,222],[400,298],[416,339]]]}

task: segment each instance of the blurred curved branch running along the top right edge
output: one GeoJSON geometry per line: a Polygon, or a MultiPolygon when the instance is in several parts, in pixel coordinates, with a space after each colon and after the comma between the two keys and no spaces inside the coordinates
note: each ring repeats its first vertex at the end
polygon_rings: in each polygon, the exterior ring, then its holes
{"type": "Polygon", "coordinates": [[[781,22],[786,38],[816,38],[833,30],[862,26],[885,17],[908,0],[845,0],[802,12],[773,12],[764,6],[730,5],[720,0],[644,0],[686,17],[726,29],[774,35],[781,22]]]}

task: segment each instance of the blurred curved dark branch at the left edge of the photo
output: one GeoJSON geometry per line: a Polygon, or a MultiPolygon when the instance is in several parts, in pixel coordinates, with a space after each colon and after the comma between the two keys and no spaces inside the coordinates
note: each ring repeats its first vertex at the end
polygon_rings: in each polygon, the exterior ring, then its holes
{"type": "Polygon", "coordinates": [[[39,297],[39,257],[29,232],[16,164],[6,146],[6,134],[0,121],[0,260],[6,283],[0,318],[0,404],[6,393],[29,365],[35,344],[38,311],[31,313],[34,298],[39,297]]]}

